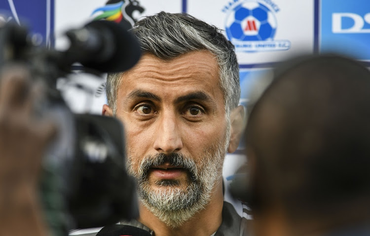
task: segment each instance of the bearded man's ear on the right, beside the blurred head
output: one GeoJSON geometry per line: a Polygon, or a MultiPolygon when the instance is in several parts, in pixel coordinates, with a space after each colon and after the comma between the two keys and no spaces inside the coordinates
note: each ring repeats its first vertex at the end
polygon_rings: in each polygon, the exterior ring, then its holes
{"type": "Polygon", "coordinates": [[[242,136],[244,128],[244,107],[239,105],[230,114],[230,142],[227,148],[227,152],[233,153],[236,151],[239,145],[240,138],[242,136]]]}

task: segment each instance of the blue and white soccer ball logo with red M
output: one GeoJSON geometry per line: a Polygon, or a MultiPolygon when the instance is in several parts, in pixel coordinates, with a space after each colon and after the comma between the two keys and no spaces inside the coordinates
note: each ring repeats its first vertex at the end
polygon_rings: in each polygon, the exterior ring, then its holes
{"type": "Polygon", "coordinates": [[[226,34],[230,40],[272,40],[276,26],[273,12],[257,1],[237,5],[226,17],[226,34]]]}

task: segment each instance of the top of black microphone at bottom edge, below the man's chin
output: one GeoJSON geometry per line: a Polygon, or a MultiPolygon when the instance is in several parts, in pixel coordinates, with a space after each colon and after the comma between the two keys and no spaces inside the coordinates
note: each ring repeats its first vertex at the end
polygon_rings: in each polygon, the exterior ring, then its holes
{"type": "Polygon", "coordinates": [[[101,229],[96,236],[151,236],[151,234],[130,225],[109,225],[101,229]]]}

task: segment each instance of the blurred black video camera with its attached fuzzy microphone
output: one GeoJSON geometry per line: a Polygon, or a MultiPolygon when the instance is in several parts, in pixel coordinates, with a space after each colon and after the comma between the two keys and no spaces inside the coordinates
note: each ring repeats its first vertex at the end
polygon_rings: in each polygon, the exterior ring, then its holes
{"type": "Polygon", "coordinates": [[[66,33],[70,47],[56,51],[36,46],[27,28],[0,26],[0,67],[21,63],[43,83],[35,113],[55,121],[58,134],[43,159],[40,198],[54,235],[92,228],[138,215],[134,180],[125,171],[124,131],[115,118],[74,114],[56,89],[75,62],[89,71],[118,72],[140,58],[139,43],[127,29],[93,21],[66,33]]]}

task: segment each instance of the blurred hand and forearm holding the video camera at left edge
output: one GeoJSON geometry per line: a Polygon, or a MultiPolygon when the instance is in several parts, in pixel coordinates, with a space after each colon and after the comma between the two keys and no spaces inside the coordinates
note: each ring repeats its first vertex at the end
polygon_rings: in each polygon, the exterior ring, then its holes
{"type": "Polygon", "coordinates": [[[37,86],[25,67],[0,71],[0,235],[47,236],[38,201],[41,158],[55,135],[50,120],[33,114],[37,86]]]}

